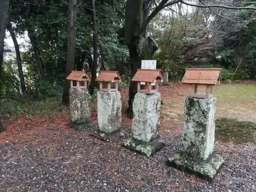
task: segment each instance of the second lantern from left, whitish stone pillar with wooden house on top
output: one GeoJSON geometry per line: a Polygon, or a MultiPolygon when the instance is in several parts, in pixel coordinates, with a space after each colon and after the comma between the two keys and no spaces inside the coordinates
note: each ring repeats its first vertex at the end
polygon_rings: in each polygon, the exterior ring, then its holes
{"type": "Polygon", "coordinates": [[[104,140],[115,140],[120,136],[121,127],[121,94],[118,91],[118,83],[121,77],[117,71],[101,71],[96,81],[100,83],[97,92],[98,125],[97,135],[104,140]],[[106,83],[106,88],[103,88],[106,83]],[[111,88],[115,83],[115,88],[111,88]]]}

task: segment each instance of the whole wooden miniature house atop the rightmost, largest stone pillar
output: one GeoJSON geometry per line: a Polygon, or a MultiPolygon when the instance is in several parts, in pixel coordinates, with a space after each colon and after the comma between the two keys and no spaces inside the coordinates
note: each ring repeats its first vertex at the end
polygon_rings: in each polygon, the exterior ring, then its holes
{"type": "Polygon", "coordinates": [[[191,91],[189,96],[195,98],[208,99],[213,96],[214,86],[221,83],[221,68],[187,68],[182,83],[194,84],[194,92],[191,91]],[[198,85],[206,86],[206,94],[198,93],[198,85]]]}

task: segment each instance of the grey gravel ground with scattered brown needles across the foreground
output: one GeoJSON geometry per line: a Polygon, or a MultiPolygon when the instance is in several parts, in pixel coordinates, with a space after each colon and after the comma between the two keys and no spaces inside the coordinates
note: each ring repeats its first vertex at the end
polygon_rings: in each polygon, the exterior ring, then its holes
{"type": "Polygon", "coordinates": [[[56,131],[45,142],[2,143],[0,191],[256,191],[256,145],[216,142],[225,164],[210,184],[165,166],[179,149],[180,134],[161,139],[166,147],[150,158],[88,133],[60,137],[56,131]]]}

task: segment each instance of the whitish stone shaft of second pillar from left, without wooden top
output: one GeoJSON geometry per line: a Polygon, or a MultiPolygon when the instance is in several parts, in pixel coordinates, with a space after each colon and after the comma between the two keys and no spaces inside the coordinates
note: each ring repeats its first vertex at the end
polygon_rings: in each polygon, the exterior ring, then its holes
{"type": "Polygon", "coordinates": [[[97,92],[99,135],[106,140],[120,136],[121,94],[115,92],[97,92]]]}

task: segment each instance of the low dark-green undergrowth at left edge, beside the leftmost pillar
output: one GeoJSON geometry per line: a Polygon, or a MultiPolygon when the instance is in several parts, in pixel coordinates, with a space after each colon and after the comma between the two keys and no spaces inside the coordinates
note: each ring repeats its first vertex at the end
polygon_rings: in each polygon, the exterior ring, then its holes
{"type": "MultiPolygon", "coordinates": [[[[2,91],[5,90],[3,88],[2,86],[2,91]]],[[[0,117],[19,116],[23,113],[26,113],[26,117],[29,118],[34,114],[51,116],[54,112],[65,109],[60,102],[62,89],[62,86],[57,83],[43,81],[32,83],[26,95],[5,94],[5,97],[0,99],[0,117]]]]}

